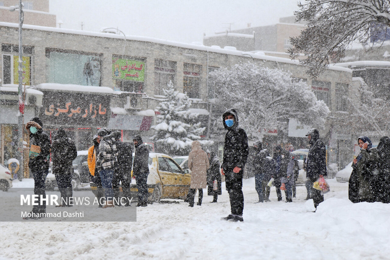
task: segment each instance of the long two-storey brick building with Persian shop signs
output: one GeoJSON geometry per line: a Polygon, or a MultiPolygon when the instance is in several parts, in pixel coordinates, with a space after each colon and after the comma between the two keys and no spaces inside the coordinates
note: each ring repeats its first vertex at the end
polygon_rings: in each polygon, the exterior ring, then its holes
{"type": "MultiPolygon", "coordinates": [[[[17,28],[17,23],[0,22],[0,78],[3,86],[13,91],[12,95],[7,95],[8,89],[1,89],[2,104],[9,105],[10,111],[8,119],[1,117],[3,160],[9,154],[13,156],[11,151],[16,141],[13,135],[18,111],[17,28]]],[[[125,141],[141,134],[145,142],[150,142],[153,134],[150,126],[156,120],[154,109],[164,98],[162,89],[169,81],[178,91],[188,94],[193,108],[200,113],[199,121],[207,126],[209,98],[213,93],[208,73],[246,61],[290,71],[294,77],[303,78],[313,86],[316,96],[332,111],[326,128],[321,129],[321,135],[331,140],[329,148],[335,153],[332,155],[328,149],[328,158],[334,157],[334,162],[344,166],[346,160],[340,161],[339,154],[347,149],[346,143],[351,140],[350,136],[342,134],[344,130],[337,123],[339,114],[344,115],[346,109],[337,93],[348,93],[351,70],[332,67],[316,80],[310,80],[298,62],[232,48],[23,25],[23,82],[27,89],[26,111],[30,111],[26,112],[25,120],[30,116],[42,117],[44,128],[50,133],[59,127],[65,128],[76,140],[78,150],[88,148],[96,128],[104,126],[121,130],[125,141]]],[[[277,131],[272,132],[269,139],[275,142],[306,142],[302,131],[292,136],[279,133],[275,138],[272,134],[277,131]]],[[[222,135],[216,137],[216,146],[222,139],[222,135]]]]}

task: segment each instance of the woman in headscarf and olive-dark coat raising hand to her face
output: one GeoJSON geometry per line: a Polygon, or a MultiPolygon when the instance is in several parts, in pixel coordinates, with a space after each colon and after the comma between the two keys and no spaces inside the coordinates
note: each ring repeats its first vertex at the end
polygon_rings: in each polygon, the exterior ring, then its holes
{"type": "Polygon", "coordinates": [[[376,148],[367,136],[358,138],[359,155],[353,159],[351,177],[349,178],[349,199],[353,203],[367,201],[374,202],[373,179],[374,168],[378,160],[376,148]]]}

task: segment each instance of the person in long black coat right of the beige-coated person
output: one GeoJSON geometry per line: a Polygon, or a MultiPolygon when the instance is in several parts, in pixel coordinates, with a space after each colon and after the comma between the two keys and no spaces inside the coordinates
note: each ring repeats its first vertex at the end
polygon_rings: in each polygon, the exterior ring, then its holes
{"type": "Polygon", "coordinates": [[[207,153],[209,157],[209,169],[207,170],[207,195],[213,196],[211,203],[217,202],[218,195],[222,194],[221,164],[217,153],[207,153]],[[216,188],[216,189],[215,189],[216,188]]]}

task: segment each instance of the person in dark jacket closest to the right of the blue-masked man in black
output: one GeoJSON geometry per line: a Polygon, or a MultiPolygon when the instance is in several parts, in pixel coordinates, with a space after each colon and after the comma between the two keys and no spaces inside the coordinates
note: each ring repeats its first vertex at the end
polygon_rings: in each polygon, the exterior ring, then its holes
{"type": "Polygon", "coordinates": [[[253,148],[255,154],[253,157],[253,169],[255,173],[255,189],[257,195],[259,196],[259,202],[264,202],[264,191],[262,187],[262,182],[268,168],[268,159],[266,158],[266,152],[262,150],[261,141],[254,143],[253,148]]]}

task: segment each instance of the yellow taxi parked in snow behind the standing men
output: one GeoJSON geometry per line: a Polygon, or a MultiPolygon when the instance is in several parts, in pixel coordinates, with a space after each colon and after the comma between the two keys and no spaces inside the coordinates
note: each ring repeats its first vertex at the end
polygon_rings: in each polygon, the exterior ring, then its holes
{"type": "MultiPolygon", "coordinates": [[[[147,186],[150,201],[186,199],[191,182],[188,170],[183,170],[172,157],[162,153],[149,153],[148,164],[147,186]]],[[[137,183],[133,178],[131,179],[130,192],[131,196],[137,197],[137,183]]]]}

